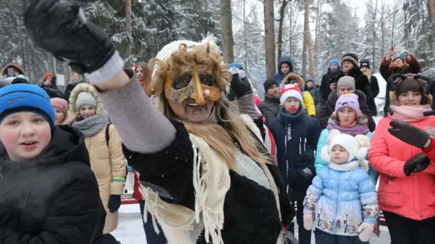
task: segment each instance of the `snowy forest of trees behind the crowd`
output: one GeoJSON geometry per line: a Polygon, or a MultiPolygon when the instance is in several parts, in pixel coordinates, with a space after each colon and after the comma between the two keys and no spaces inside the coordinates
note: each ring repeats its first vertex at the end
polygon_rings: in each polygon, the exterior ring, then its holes
{"type": "MultiPolygon", "coordinates": [[[[35,47],[25,32],[22,2],[0,0],[0,66],[18,63],[34,83],[48,71],[63,74],[67,83],[68,64],[35,47]]],[[[259,94],[282,55],[291,56],[295,72],[315,77],[316,83],[329,61],[348,51],[369,59],[373,73],[391,46],[405,46],[423,69],[435,66],[433,0],[76,2],[109,33],[127,65],[147,62],[171,41],[199,41],[212,34],[219,40],[225,62],[243,64],[259,94]]]]}

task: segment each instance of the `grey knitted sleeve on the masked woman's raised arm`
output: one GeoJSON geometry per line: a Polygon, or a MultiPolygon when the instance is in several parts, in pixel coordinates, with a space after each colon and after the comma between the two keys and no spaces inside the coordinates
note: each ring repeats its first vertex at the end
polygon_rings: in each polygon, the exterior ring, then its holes
{"type": "Polygon", "coordinates": [[[175,128],[151,103],[136,78],[99,96],[129,150],[156,153],[175,139],[175,128]]]}

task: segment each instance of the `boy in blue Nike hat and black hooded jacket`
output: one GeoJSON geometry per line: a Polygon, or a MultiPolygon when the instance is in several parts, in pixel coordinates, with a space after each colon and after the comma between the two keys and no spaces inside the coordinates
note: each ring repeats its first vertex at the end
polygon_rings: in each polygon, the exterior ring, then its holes
{"type": "Polygon", "coordinates": [[[101,243],[106,212],[83,134],[55,127],[42,88],[0,89],[0,141],[0,243],[101,243]]]}

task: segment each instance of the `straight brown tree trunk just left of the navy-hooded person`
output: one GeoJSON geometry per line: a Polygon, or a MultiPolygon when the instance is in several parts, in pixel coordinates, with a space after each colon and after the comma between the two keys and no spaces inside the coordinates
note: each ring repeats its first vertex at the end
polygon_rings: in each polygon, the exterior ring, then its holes
{"type": "Polygon", "coordinates": [[[264,0],[264,33],[266,47],[266,73],[267,77],[272,77],[276,73],[273,0],[264,0]]]}

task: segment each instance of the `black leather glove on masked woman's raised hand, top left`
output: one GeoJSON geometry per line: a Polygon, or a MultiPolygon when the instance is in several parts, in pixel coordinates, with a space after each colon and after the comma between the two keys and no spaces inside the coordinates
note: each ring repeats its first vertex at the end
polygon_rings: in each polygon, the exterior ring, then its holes
{"type": "Polygon", "coordinates": [[[109,36],[72,1],[25,0],[24,26],[36,45],[70,61],[79,74],[102,67],[115,52],[109,36]]]}

